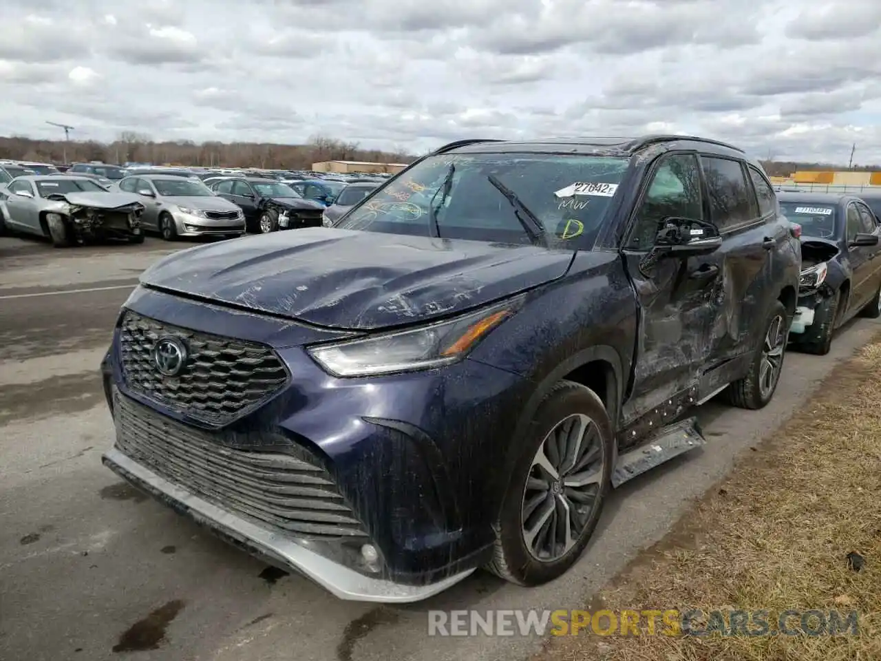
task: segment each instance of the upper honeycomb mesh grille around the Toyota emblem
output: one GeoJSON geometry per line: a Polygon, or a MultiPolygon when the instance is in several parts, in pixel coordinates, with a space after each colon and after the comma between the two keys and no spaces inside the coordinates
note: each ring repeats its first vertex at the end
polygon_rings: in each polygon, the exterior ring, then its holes
{"type": "Polygon", "coordinates": [[[284,364],[268,346],[189,331],[131,310],[122,317],[120,359],[130,390],[211,425],[252,411],[288,379],[284,364]],[[163,375],[153,358],[157,340],[166,336],[189,348],[178,376],[163,375]]]}

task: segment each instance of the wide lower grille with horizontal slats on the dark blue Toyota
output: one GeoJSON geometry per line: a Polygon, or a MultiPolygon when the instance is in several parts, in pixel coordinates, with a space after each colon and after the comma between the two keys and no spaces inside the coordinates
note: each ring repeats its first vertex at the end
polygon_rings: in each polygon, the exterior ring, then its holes
{"type": "Polygon", "coordinates": [[[123,454],[218,507],[297,537],[366,537],[329,472],[305,448],[285,439],[279,442],[291,454],[225,447],[222,432],[187,427],[118,391],[114,416],[123,454]]]}

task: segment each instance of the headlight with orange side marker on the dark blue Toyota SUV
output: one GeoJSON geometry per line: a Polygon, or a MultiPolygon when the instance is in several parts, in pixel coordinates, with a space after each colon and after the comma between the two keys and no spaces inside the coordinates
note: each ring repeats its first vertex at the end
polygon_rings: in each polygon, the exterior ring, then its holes
{"type": "Polygon", "coordinates": [[[515,306],[494,307],[412,331],[318,345],[308,352],[335,376],[366,376],[439,368],[462,360],[515,306]]]}

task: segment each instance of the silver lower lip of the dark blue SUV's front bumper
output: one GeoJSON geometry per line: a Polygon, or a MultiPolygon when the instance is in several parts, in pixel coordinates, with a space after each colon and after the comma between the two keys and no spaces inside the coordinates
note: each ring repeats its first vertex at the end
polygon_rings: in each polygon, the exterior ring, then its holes
{"type": "Polygon", "coordinates": [[[190,516],[196,524],[206,527],[218,537],[235,546],[244,547],[249,553],[265,556],[273,564],[280,564],[306,576],[340,599],[386,604],[421,601],[447,590],[474,571],[469,569],[437,583],[422,586],[401,585],[364,576],[310,551],[292,538],[266,530],[199,498],[137,464],[117,449],[108,450],[101,457],[101,462],[131,485],[151,494],[179,514],[190,516]]]}

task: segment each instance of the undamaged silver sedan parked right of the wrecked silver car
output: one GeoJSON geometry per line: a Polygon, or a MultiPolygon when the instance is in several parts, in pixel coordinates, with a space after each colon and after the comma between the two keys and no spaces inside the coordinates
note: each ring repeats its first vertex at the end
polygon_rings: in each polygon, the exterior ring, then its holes
{"type": "Polygon", "coordinates": [[[180,236],[245,234],[241,207],[218,197],[199,179],[132,175],[122,179],[118,188],[140,196],[144,229],[159,232],[166,241],[180,236]]]}

